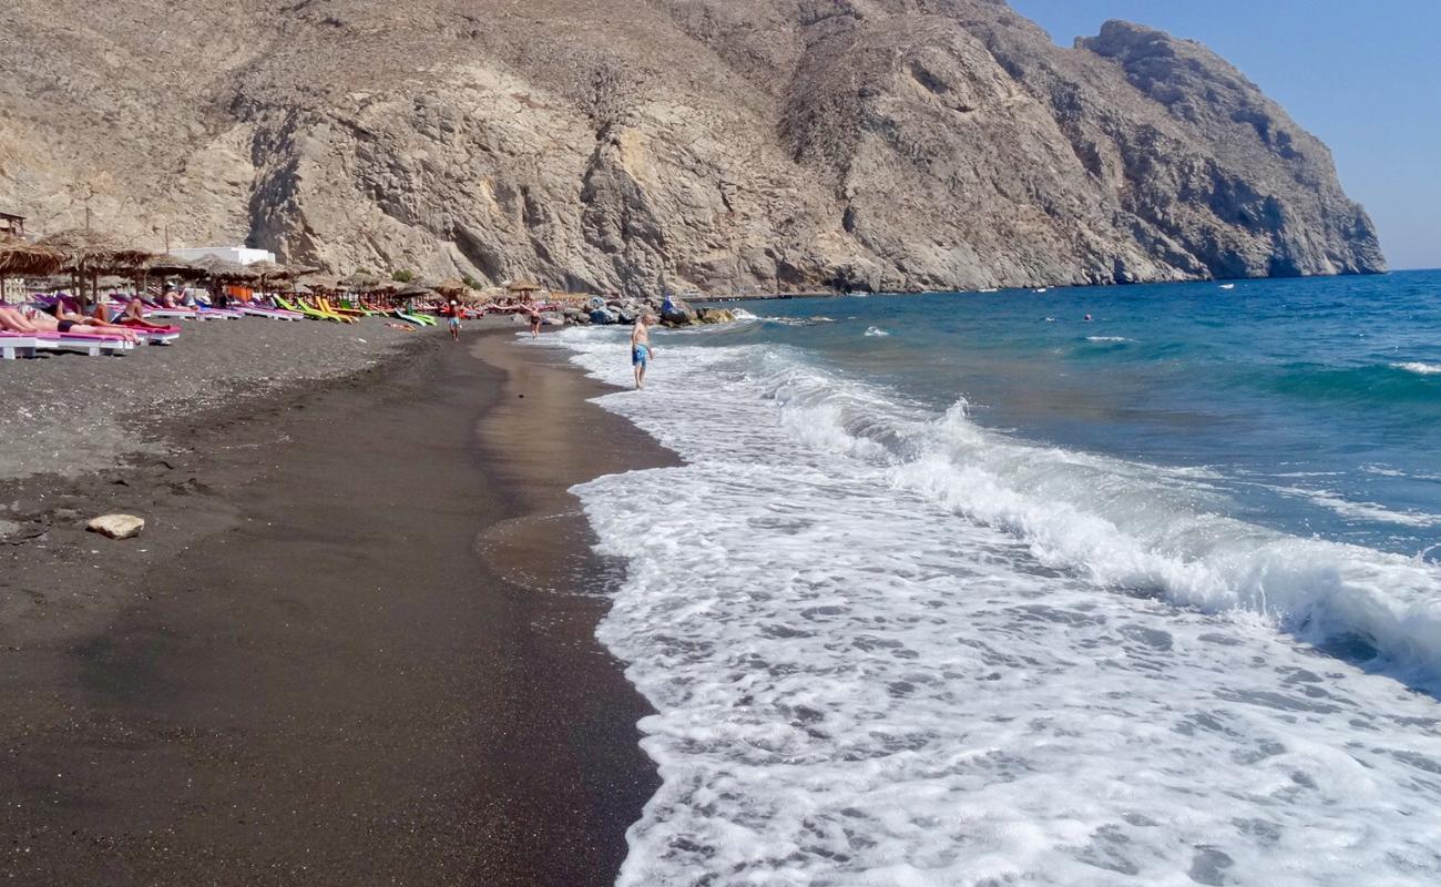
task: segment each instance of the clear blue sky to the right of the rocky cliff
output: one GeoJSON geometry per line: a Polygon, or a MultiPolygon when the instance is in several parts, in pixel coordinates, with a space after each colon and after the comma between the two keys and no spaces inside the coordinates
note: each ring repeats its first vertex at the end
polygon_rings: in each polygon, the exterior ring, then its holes
{"type": "Polygon", "coordinates": [[[1441,0],[1010,0],[1062,46],[1127,19],[1200,40],[1330,146],[1392,268],[1441,267],[1441,0]]]}

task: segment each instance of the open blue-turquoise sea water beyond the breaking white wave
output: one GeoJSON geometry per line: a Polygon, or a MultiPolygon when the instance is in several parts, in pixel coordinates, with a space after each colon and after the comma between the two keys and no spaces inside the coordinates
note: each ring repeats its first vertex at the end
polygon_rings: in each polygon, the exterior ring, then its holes
{"type": "Polygon", "coordinates": [[[795,348],[1017,438],[1205,472],[1238,518],[1441,562],[1441,271],[1222,286],[785,300],[710,342],[795,348]]]}

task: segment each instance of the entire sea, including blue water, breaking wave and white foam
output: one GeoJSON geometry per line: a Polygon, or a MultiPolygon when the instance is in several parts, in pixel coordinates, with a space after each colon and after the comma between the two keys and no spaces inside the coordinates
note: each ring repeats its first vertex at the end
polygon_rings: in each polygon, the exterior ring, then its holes
{"type": "Polygon", "coordinates": [[[1441,273],[746,307],[575,490],[621,884],[1441,883],[1441,273]]]}

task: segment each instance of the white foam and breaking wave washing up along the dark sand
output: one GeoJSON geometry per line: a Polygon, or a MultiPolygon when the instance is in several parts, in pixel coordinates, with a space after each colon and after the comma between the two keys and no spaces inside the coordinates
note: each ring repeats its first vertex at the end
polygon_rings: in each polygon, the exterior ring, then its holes
{"type": "MultiPolygon", "coordinates": [[[[614,330],[556,339],[624,382],[614,330]]],[[[630,565],[601,637],[657,711],[621,884],[1441,875],[1435,700],[1297,639],[1434,675],[1435,567],[785,348],[666,352],[601,402],[689,464],[576,487],[630,565]]]]}

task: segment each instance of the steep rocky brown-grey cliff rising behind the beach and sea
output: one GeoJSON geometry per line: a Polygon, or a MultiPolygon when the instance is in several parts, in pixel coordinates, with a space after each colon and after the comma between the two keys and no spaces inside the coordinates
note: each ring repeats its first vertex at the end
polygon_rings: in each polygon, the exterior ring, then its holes
{"type": "Polygon", "coordinates": [[[585,290],[1383,270],[1205,48],[1000,0],[12,0],[0,205],[585,290]]]}

